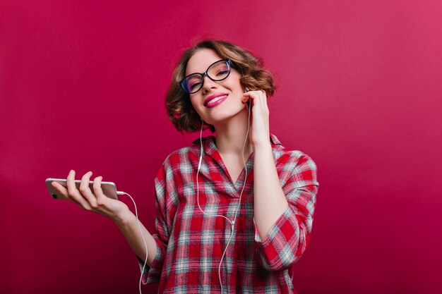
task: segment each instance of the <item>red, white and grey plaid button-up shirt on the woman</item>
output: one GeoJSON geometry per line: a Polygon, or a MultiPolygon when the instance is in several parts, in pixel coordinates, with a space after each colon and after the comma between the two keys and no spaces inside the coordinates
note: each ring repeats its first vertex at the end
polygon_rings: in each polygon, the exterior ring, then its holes
{"type": "MultiPolygon", "coordinates": [[[[296,293],[291,267],[309,243],[319,185],[316,164],[303,152],[285,150],[275,135],[270,141],[289,207],[261,240],[253,220],[252,153],[232,241],[222,262],[224,293],[296,293]]],[[[203,146],[198,185],[206,215],[196,200],[199,139],[169,154],[155,178],[157,254],[143,273],[143,283],[159,282],[159,293],[221,293],[218,267],[232,227],[226,219],[207,214],[234,219],[245,171],[233,183],[214,137],[204,137],[203,146]]],[[[142,266],[144,261],[138,262],[142,266]]]]}

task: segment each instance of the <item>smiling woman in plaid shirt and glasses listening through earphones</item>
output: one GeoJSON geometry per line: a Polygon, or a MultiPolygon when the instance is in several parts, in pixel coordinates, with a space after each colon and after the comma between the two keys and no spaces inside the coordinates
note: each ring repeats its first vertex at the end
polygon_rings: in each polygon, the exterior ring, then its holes
{"type": "MultiPolygon", "coordinates": [[[[313,160],[269,133],[273,77],[259,59],[224,41],[188,49],[175,68],[166,107],[177,130],[208,136],[169,154],[155,178],[156,233],[145,283],[160,293],[296,293],[291,268],[306,249],[318,181],[313,160]]],[[[84,209],[117,224],[140,264],[146,257],[136,216],[111,200],[91,172],[68,190],[84,209]]]]}

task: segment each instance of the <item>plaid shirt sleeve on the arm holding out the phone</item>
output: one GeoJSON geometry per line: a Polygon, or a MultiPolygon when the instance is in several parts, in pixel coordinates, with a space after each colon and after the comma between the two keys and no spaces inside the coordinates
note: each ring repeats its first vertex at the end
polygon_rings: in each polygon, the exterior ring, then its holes
{"type": "Polygon", "coordinates": [[[150,267],[145,265],[143,271],[144,260],[137,256],[138,264],[143,273],[143,284],[158,283],[161,278],[162,267],[165,261],[165,253],[167,250],[167,243],[169,242],[169,234],[172,228],[171,214],[174,213],[172,208],[174,199],[177,199],[177,190],[174,185],[174,175],[169,164],[169,157],[167,157],[163,166],[157,173],[155,178],[155,230],[152,234],[157,243],[157,253],[153,259],[150,267]]]}

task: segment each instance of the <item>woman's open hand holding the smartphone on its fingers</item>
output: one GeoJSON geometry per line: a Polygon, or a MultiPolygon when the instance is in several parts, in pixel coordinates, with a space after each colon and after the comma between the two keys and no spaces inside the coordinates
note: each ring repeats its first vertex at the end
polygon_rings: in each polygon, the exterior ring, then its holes
{"type": "Polygon", "coordinates": [[[85,173],[83,178],[81,178],[80,190],[77,190],[75,185],[75,171],[70,171],[68,174],[67,189],[56,182],[52,182],[52,186],[66,196],[68,200],[78,204],[82,209],[102,214],[114,221],[121,219],[126,212],[129,212],[129,207],[126,204],[119,200],[110,199],[103,194],[101,176],[94,179],[92,188],[94,192],[92,193],[89,188],[90,176],[92,176],[92,171],[85,173]]]}

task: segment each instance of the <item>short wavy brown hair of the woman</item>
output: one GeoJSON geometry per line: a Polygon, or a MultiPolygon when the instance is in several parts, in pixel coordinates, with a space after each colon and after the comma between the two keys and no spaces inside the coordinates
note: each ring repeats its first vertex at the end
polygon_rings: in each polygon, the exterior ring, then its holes
{"type": "MultiPolygon", "coordinates": [[[[239,82],[250,90],[263,90],[267,97],[273,96],[276,86],[273,75],[263,68],[262,59],[253,56],[250,51],[235,44],[222,40],[206,39],[190,47],[181,56],[172,74],[169,90],[166,94],[167,116],[181,133],[195,132],[201,129],[201,118],[193,109],[189,94],[179,85],[179,81],[186,75],[186,66],[189,59],[200,49],[212,49],[222,59],[230,59],[232,68],[241,74],[239,82]]],[[[205,128],[215,132],[213,125],[205,123],[205,128]]]]}

